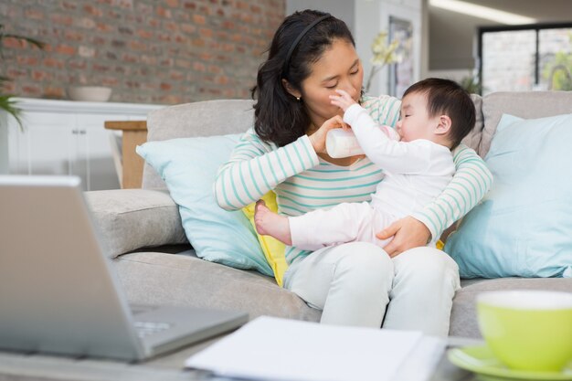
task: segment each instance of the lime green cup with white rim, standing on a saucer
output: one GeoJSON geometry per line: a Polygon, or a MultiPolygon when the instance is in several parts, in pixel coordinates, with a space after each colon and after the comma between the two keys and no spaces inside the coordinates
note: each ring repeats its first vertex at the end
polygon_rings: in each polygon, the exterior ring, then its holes
{"type": "Polygon", "coordinates": [[[482,292],[477,314],[482,337],[504,365],[560,372],[572,362],[572,292],[482,292]]]}

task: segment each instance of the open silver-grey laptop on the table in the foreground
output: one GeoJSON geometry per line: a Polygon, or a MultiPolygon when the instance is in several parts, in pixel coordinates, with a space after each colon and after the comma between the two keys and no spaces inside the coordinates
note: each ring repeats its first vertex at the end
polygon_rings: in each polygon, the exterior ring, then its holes
{"type": "Polygon", "coordinates": [[[0,175],[0,349],[140,361],[248,321],[131,308],[75,176],[0,175]]]}

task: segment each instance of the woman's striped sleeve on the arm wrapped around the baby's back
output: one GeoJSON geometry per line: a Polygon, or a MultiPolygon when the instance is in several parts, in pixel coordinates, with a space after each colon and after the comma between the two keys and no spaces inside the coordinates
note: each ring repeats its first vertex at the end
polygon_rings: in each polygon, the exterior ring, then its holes
{"type": "Polygon", "coordinates": [[[456,173],[445,190],[423,210],[412,217],[421,221],[432,238],[476,206],[493,184],[493,175],[471,148],[461,144],[453,151],[456,173]]]}

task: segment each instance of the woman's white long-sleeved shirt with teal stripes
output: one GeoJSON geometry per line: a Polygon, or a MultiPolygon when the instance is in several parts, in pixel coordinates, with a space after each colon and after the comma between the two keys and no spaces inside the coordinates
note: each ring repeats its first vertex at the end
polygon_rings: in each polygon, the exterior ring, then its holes
{"type": "MultiPolygon", "coordinates": [[[[401,101],[383,95],[366,98],[362,106],[379,124],[395,126],[401,101]]],[[[471,148],[453,151],[456,173],[450,185],[428,206],[412,215],[429,228],[431,237],[463,217],[489,190],[493,175],[471,148]]],[[[343,202],[370,201],[384,174],[367,157],[349,166],[328,163],[313,150],[307,135],[278,147],[263,142],[249,129],[230,159],[218,170],[215,197],[219,206],[236,210],[258,201],[270,190],[276,193],[279,213],[299,216],[343,202]]],[[[286,248],[288,263],[309,251],[286,248]]]]}

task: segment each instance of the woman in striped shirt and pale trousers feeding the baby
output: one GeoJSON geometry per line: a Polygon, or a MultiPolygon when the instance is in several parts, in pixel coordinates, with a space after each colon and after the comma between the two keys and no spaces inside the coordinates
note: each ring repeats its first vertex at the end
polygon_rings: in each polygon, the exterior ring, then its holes
{"type": "MultiPolygon", "coordinates": [[[[218,204],[238,209],[274,190],[279,212],[297,216],[369,201],[383,173],[365,156],[334,159],[325,151],[326,132],[343,123],[329,96],[345,90],[360,101],[362,82],[355,42],[343,21],[310,10],[286,17],[253,89],[254,129],[217,175],[218,204]]],[[[396,124],[397,99],[361,103],[376,122],[396,124]]],[[[323,310],[322,323],[446,336],[459,272],[449,256],[425,245],[475,206],[492,181],[474,151],[461,145],[454,153],[457,172],[450,185],[423,212],[380,232],[381,239],[393,237],[385,250],[365,242],[314,252],[286,248],[284,287],[323,310]]]]}

